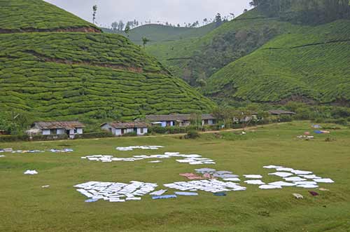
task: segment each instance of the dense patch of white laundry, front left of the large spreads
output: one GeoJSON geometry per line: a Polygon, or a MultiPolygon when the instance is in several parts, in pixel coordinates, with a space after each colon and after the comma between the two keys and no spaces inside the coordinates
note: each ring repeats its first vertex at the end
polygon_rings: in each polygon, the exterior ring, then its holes
{"type": "Polygon", "coordinates": [[[92,200],[108,200],[109,202],[125,202],[141,200],[157,188],[158,184],[132,181],[130,184],[119,182],[86,182],[77,184],[78,192],[92,200]]]}

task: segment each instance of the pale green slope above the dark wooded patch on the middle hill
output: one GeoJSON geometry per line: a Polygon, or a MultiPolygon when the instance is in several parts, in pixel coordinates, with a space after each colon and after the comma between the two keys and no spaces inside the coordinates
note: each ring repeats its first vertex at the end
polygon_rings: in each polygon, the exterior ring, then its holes
{"type": "MultiPolygon", "coordinates": [[[[278,33],[293,31],[296,26],[288,22],[280,22],[274,18],[264,18],[255,9],[240,15],[235,20],[226,22],[204,36],[192,39],[180,39],[155,43],[146,48],[147,52],[158,58],[168,67],[173,67],[176,76],[181,77],[182,71],[188,65],[188,60],[168,60],[173,58],[192,57],[195,50],[202,50],[216,37],[228,32],[261,30],[262,28],[276,28],[278,33]]],[[[215,57],[213,57],[215,58],[215,57]]]]}

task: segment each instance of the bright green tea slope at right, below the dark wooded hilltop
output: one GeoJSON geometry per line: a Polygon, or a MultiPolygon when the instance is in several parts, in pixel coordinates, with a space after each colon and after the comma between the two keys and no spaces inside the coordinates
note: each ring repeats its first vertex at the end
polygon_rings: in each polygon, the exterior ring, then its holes
{"type": "Polygon", "coordinates": [[[209,79],[206,93],[255,102],[293,96],[318,102],[350,100],[349,62],[349,20],[301,27],[218,71],[209,79]],[[323,44],[304,46],[313,43],[323,44]]]}

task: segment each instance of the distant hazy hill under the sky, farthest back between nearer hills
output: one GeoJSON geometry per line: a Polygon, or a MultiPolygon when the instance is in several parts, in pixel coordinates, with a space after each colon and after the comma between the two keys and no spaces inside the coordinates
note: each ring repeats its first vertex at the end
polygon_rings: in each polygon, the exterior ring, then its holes
{"type": "MultiPolygon", "coordinates": [[[[142,44],[142,37],[150,40],[149,44],[160,43],[166,41],[176,41],[179,39],[188,39],[204,36],[215,29],[215,24],[210,23],[203,27],[169,27],[165,25],[143,25],[131,29],[128,34],[125,32],[115,32],[127,36],[132,42],[142,44]]],[[[111,29],[103,29],[104,32],[114,33],[111,29]]]]}

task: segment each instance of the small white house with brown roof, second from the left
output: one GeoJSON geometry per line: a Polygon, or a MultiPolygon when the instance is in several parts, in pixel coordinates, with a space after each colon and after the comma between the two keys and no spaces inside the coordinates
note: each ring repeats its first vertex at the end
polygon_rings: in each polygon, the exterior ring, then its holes
{"type": "Polygon", "coordinates": [[[148,125],[147,123],[143,123],[143,122],[104,123],[101,125],[101,129],[107,130],[116,136],[122,136],[132,132],[137,133],[137,135],[145,135],[148,133],[148,125]]]}

